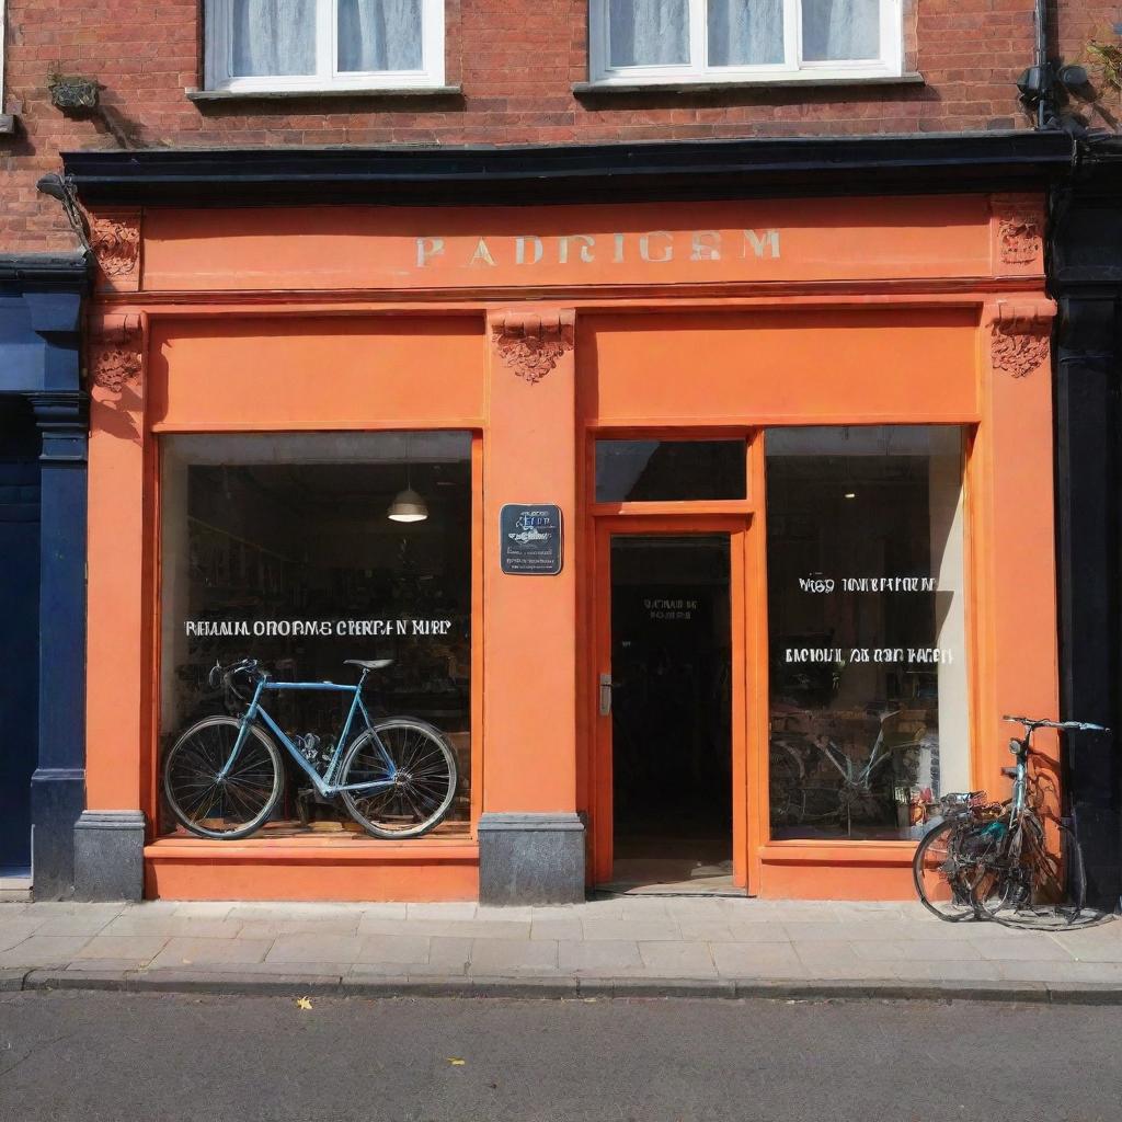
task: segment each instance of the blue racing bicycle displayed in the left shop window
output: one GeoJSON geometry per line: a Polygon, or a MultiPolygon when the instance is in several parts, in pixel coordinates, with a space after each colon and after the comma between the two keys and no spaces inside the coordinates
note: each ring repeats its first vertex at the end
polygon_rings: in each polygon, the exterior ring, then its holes
{"type": "Polygon", "coordinates": [[[373,671],[392,661],[348,659],[347,665],[361,671],[356,686],[274,681],[252,659],[215,665],[210,673],[212,688],[224,689],[231,710],[234,702],[246,709],[240,717],[205,717],[172,745],[164,761],[164,794],[172,813],[199,837],[230,842],[248,837],[268,820],[284,790],[279,742],[315,791],[327,799],[339,795],[368,834],[377,838],[427,834],[443,820],[456,797],[456,755],[440,732],[423,720],[370,719],[362,687],[373,671]],[[313,736],[289,737],[269,716],[263,696],[287,690],[351,695],[333,747],[324,752],[313,736]],[[356,718],[365,727],[352,739],[356,718]]]}

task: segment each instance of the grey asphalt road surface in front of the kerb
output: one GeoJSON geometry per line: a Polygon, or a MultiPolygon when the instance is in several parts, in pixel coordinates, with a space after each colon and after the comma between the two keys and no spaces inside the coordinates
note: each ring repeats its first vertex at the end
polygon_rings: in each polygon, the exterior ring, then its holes
{"type": "Polygon", "coordinates": [[[18,1122],[1115,1122],[1122,1009],[0,994],[18,1122]]]}

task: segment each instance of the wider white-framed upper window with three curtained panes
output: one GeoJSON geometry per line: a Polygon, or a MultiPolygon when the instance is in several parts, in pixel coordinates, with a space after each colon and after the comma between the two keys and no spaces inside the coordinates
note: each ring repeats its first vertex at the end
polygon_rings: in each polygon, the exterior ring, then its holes
{"type": "Polygon", "coordinates": [[[901,0],[590,0],[594,82],[900,74],[901,0]]]}

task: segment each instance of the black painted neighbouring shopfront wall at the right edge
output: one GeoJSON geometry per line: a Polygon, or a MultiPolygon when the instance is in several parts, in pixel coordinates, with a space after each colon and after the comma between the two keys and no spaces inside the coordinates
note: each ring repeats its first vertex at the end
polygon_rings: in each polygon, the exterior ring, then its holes
{"type": "MultiPolygon", "coordinates": [[[[1070,734],[1066,772],[1088,900],[1122,895],[1122,163],[1085,144],[1052,200],[1060,705],[1110,736],[1070,734]]],[[[1122,150],[1120,150],[1122,155],[1122,150]]]]}

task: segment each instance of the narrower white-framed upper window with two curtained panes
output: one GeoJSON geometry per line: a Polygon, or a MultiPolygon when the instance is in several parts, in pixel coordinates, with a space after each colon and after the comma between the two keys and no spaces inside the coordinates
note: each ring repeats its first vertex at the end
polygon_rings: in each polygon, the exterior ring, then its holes
{"type": "Polygon", "coordinates": [[[444,82],[443,0],[208,0],[212,90],[362,90],[444,82]]]}

